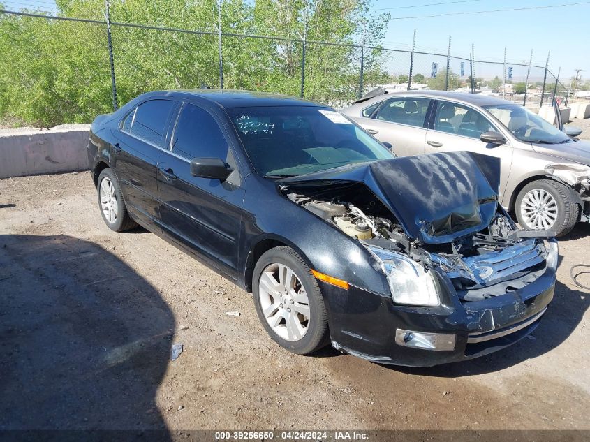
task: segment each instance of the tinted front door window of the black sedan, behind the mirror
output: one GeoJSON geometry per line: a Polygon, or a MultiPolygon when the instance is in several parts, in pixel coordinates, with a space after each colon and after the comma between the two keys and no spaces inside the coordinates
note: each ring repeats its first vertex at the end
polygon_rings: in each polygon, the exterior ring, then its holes
{"type": "Polygon", "coordinates": [[[196,105],[184,103],[172,140],[172,152],[187,160],[200,156],[225,161],[228,156],[228,142],[209,112],[196,105]]]}

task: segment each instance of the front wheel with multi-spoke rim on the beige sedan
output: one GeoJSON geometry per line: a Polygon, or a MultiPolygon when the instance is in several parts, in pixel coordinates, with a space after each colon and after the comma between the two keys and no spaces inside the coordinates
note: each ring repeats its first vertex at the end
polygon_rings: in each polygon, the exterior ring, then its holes
{"type": "Polygon", "coordinates": [[[563,236],[580,219],[580,205],[571,197],[568,186],[551,179],[526,184],[515,202],[519,224],[530,230],[554,230],[563,236]]]}

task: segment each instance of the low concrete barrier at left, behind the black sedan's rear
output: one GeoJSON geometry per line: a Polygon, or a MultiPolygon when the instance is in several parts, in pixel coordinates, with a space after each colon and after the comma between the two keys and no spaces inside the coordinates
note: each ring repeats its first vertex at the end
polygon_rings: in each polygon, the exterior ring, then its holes
{"type": "Polygon", "coordinates": [[[0,130],[0,178],[88,168],[89,124],[0,130]]]}

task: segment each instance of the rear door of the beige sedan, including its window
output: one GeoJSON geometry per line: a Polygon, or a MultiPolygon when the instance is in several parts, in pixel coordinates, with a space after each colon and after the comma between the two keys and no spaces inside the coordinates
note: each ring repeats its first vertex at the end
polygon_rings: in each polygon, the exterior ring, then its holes
{"type": "MultiPolygon", "coordinates": [[[[389,142],[399,156],[424,152],[429,98],[395,97],[381,103],[358,123],[381,142],[389,142]]],[[[365,114],[366,115],[366,112],[365,114]]]]}

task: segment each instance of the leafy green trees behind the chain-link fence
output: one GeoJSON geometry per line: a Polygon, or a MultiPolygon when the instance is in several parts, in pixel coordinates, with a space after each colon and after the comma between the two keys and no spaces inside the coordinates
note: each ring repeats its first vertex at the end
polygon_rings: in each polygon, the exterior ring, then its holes
{"type": "MultiPolygon", "coordinates": [[[[112,0],[111,20],[204,31],[189,34],[112,26],[119,105],[145,91],[219,87],[216,0],[112,0]]],[[[389,15],[370,0],[223,0],[224,86],[299,95],[301,36],[307,30],[305,96],[344,105],[364,84],[385,82],[383,39],[389,15]]],[[[57,0],[58,15],[104,20],[103,0],[57,0]]],[[[111,80],[101,24],[0,15],[0,120],[51,126],[110,112],[111,80]],[[82,38],[83,36],[83,38],[82,38]]]]}

